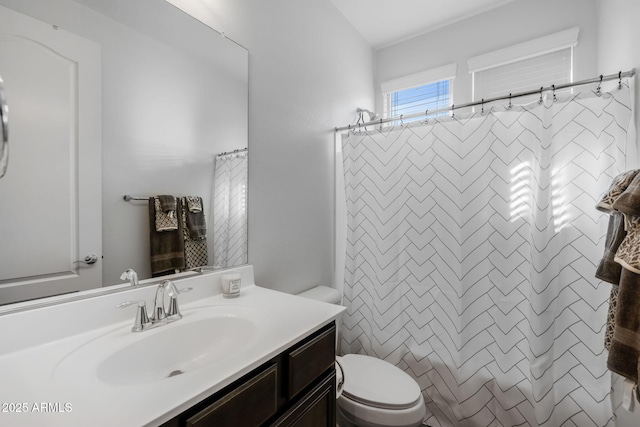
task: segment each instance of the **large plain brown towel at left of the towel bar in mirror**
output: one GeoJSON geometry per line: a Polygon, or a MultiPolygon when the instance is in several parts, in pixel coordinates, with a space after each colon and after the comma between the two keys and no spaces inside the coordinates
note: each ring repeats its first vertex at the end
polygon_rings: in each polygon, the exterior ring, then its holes
{"type": "Polygon", "coordinates": [[[159,232],[155,227],[155,197],[149,198],[149,235],[151,253],[151,275],[153,277],[173,274],[184,268],[184,240],[182,236],[179,201],[176,201],[178,228],[159,232]]]}

